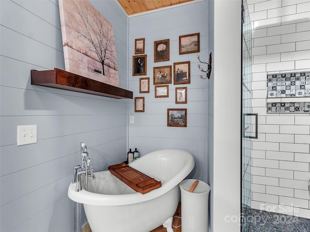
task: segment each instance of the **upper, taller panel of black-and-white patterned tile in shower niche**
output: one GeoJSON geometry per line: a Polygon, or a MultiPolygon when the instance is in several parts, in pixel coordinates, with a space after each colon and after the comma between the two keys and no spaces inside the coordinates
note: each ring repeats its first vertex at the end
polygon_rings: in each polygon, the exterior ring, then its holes
{"type": "Polygon", "coordinates": [[[267,75],[267,98],[310,97],[310,72],[267,75]]]}

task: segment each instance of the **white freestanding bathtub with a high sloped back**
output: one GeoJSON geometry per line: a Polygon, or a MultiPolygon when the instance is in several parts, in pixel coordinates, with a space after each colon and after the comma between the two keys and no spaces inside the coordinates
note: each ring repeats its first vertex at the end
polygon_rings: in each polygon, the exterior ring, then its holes
{"type": "Polygon", "coordinates": [[[162,186],[141,194],[128,187],[109,171],[94,173],[88,190],[76,192],[70,184],[68,196],[83,203],[92,232],[149,232],[175,213],[179,203],[179,183],[194,167],[192,155],[184,150],[151,152],[129,166],[161,181],[162,186]]]}

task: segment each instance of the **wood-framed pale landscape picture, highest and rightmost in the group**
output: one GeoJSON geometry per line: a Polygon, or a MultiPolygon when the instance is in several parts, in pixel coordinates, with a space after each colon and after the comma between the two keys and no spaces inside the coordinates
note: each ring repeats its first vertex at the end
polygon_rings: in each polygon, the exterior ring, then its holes
{"type": "Polygon", "coordinates": [[[199,33],[179,36],[179,54],[200,52],[199,33]]]}

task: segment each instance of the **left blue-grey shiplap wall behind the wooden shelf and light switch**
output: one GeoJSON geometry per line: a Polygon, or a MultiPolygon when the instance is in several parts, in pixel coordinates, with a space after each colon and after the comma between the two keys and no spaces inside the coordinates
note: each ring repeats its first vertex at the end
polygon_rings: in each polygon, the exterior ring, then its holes
{"type": "MultiPolygon", "coordinates": [[[[113,25],[127,88],[128,17],[117,1],[91,2],[113,25]]],[[[31,69],[64,69],[58,1],[1,0],[0,11],[0,231],[72,232],[79,143],[95,171],[124,161],[128,100],[31,86],[31,69]],[[38,142],[17,146],[17,126],[33,124],[38,142]]]]}

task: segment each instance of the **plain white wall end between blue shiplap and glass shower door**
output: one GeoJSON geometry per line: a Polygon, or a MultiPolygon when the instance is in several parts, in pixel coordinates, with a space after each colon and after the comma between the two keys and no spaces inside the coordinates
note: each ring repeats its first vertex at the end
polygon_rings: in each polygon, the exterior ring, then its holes
{"type": "Polygon", "coordinates": [[[214,1],[213,78],[211,231],[239,232],[233,217],[239,218],[241,199],[241,0],[214,1]]]}

